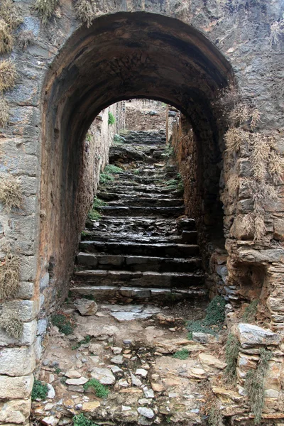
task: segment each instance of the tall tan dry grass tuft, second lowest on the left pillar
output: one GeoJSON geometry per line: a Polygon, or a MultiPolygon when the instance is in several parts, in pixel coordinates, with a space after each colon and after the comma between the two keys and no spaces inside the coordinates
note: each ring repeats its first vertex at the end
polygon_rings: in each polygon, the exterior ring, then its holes
{"type": "Polygon", "coordinates": [[[20,285],[20,258],[7,253],[0,263],[0,299],[15,297],[20,285]]]}

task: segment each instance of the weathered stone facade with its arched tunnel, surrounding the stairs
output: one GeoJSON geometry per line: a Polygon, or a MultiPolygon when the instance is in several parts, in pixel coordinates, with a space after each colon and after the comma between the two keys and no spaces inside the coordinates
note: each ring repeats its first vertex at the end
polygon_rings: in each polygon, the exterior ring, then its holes
{"type": "MultiPolygon", "coordinates": [[[[178,151],[184,166],[189,156],[196,159],[194,170],[184,167],[182,173],[188,184],[196,183],[188,209],[202,212],[208,274],[219,276],[213,281],[219,280],[233,306],[240,295],[246,301],[258,297],[260,323],[278,334],[284,327],[282,180],[275,180],[276,196],[263,207],[266,234],[257,241],[242,228],[251,212],[244,179],[251,173],[248,146],[239,146],[232,164],[224,142],[227,124],[216,104],[222,89],[239,87],[241,99],[261,115],[256,130],[273,136],[271,149],[283,154],[284,43],[281,33],[271,36],[271,26],[280,26],[283,2],[97,0],[89,8],[88,1],[51,3],[56,7],[45,23],[34,0],[11,3],[21,20],[13,29],[13,49],[2,49],[0,60],[2,105],[9,114],[1,128],[1,180],[15,178],[22,191],[21,207],[9,210],[2,203],[0,210],[2,258],[20,262],[20,285],[1,300],[1,319],[22,327],[14,337],[8,327],[0,330],[5,424],[27,422],[48,315],[67,294],[94,182],[107,158],[106,143],[98,143],[103,138],[94,138],[90,147],[87,131],[99,111],[122,99],[158,99],[187,116],[180,130],[187,143],[178,151]],[[24,46],[16,41],[23,32],[29,34],[24,46]],[[16,71],[10,86],[3,80],[5,61],[10,76],[16,71]],[[220,190],[231,190],[232,166],[239,189],[220,199],[220,190]],[[196,203],[190,207],[192,197],[196,203]],[[213,246],[210,226],[218,231],[213,246]]],[[[99,131],[96,122],[92,131],[99,131]]],[[[281,351],[279,356],[283,366],[281,351]]]]}

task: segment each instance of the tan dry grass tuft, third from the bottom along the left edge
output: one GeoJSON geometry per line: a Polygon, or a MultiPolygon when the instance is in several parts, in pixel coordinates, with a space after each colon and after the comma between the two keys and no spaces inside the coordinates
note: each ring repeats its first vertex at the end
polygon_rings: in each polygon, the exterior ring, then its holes
{"type": "Polygon", "coordinates": [[[22,188],[20,182],[13,176],[1,176],[0,180],[0,202],[4,204],[6,212],[13,208],[20,208],[22,202],[22,188]]]}

